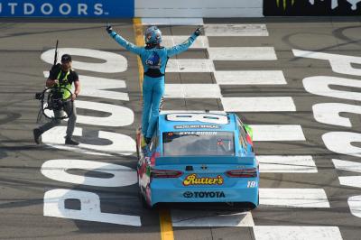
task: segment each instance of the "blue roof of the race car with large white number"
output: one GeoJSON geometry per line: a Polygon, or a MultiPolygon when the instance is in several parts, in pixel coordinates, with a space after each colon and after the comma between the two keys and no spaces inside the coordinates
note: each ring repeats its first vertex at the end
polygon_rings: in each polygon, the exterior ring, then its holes
{"type": "Polygon", "coordinates": [[[159,115],[161,132],[235,131],[236,115],[217,112],[172,112],[159,115]]]}

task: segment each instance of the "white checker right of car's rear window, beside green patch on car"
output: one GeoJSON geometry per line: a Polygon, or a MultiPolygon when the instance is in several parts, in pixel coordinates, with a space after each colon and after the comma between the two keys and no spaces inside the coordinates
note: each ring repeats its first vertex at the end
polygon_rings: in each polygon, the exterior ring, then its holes
{"type": "Polygon", "coordinates": [[[254,141],[305,141],[301,125],[250,125],[254,141]]]}

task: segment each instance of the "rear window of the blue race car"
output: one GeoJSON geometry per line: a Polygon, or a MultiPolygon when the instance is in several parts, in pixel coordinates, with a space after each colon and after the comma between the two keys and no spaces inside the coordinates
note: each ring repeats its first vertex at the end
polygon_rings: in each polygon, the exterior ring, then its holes
{"type": "Polygon", "coordinates": [[[162,134],[164,156],[234,156],[233,132],[188,131],[162,134]]]}

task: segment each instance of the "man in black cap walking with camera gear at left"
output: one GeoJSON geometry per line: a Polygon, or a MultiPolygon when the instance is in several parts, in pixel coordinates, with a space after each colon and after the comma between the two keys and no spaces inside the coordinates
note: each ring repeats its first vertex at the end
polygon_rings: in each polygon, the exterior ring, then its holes
{"type": "Polygon", "coordinates": [[[64,101],[63,107],[60,110],[54,110],[54,116],[51,122],[42,125],[32,130],[34,141],[37,144],[42,143],[42,134],[56,125],[60,125],[60,117],[64,114],[69,115],[67,135],[65,137],[65,144],[78,145],[79,143],[72,139],[75,124],[77,122],[77,112],[75,107],[75,99],[78,97],[80,92],[80,82],[78,73],[71,69],[71,56],[64,54],[61,56],[61,64],[58,63],[52,66],[49,74],[49,78],[46,80],[46,87],[51,88],[58,85],[62,88],[68,88],[70,91],[62,90],[62,99],[68,99],[71,97],[71,101],[64,101]],[[75,91],[70,96],[71,87],[74,83],[75,91]]]}

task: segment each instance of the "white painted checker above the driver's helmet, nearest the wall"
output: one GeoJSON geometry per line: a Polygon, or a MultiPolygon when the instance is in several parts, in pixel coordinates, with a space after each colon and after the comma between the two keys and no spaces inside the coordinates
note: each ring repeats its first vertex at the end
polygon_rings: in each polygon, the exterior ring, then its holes
{"type": "Polygon", "coordinates": [[[143,25],[203,25],[203,18],[201,17],[143,17],[143,25]]]}

